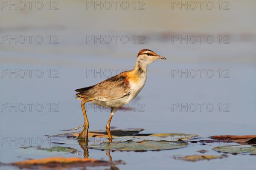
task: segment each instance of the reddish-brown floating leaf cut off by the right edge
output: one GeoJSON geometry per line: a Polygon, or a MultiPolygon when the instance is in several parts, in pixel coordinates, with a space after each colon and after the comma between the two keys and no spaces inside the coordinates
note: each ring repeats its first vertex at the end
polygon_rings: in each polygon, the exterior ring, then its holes
{"type": "Polygon", "coordinates": [[[220,135],[220,136],[210,136],[212,139],[221,141],[232,141],[232,142],[248,142],[250,140],[256,141],[256,135],[245,135],[245,136],[235,136],[235,135],[220,135]]]}

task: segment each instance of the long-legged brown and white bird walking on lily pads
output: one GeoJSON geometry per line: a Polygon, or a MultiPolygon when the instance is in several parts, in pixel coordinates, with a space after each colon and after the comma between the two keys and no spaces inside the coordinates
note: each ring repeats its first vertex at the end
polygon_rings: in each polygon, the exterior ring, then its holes
{"type": "Polygon", "coordinates": [[[79,138],[88,140],[89,122],[85,111],[85,103],[91,102],[96,105],[110,107],[111,113],[106,125],[109,141],[112,141],[110,123],[114,113],[122,105],[128,104],[143,89],[147,79],[148,66],[157,59],[166,59],[149,49],[142,49],[137,55],[135,67],[131,71],[124,71],[116,76],[105,79],[104,81],[75,91],[76,98],[81,100],[81,108],[84,114],[84,124],[70,129],[84,129],[79,133],[79,138]]]}

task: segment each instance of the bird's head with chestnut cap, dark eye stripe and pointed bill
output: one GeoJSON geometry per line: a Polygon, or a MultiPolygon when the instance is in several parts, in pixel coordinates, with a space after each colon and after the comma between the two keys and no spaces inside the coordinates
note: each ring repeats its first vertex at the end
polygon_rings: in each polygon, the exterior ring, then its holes
{"type": "Polygon", "coordinates": [[[166,59],[166,58],[154,53],[151,50],[142,49],[138,53],[137,61],[140,61],[142,64],[148,66],[157,59],[166,59]]]}

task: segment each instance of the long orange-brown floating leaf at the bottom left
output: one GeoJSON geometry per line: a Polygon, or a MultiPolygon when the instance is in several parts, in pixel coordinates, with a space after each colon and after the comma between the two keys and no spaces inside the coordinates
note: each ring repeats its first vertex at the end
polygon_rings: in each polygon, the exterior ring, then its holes
{"type": "Polygon", "coordinates": [[[27,161],[18,161],[12,163],[12,165],[18,166],[19,168],[27,169],[70,169],[74,167],[85,167],[85,166],[109,166],[112,164],[121,163],[121,161],[102,161],[97,159],[81,159],[81,158],[64,158],[64,157],[52,157],[44,159],[34,159],[27,161]]]}

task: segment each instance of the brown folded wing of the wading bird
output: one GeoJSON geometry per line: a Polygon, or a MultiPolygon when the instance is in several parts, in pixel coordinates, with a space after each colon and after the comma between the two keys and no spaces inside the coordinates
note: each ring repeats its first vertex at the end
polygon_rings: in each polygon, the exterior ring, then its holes
{"type": "Polygon", "coordinates": [[[130,93],[129,81],[126,73],[122,72],[116,76],[110,77],[96,85],[80,88],[76,91],[78,98],[105,98],[118,99],[127,96],[130,93]]]}

